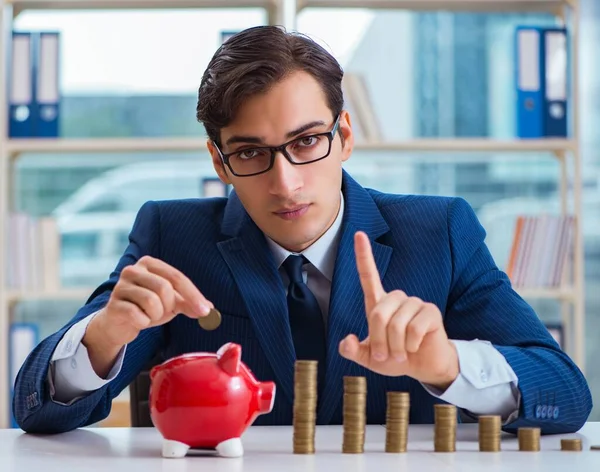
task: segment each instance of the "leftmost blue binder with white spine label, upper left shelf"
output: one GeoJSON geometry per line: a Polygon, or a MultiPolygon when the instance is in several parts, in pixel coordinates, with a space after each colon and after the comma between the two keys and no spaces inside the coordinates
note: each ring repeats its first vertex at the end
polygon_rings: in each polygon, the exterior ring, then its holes
{"type": "Polygon", "coordinates": [[[35,136],[33,35],[13,32],[9,54],[8,135],[31,138],[35,136]]]}

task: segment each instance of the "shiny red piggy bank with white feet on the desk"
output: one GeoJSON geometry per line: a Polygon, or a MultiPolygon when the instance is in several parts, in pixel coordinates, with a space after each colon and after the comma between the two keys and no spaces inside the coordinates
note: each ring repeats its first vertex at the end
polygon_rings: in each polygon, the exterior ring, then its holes
{"type": "Polygon", "coordinates": [[[150,371],[150,416],[163,437],[163,457],[184,457],[190,448],[224,457],[243,455],[241,436],[270,413],[275,384],[258,382],[227,343],[216,353],[173,357],[150,371]]]}

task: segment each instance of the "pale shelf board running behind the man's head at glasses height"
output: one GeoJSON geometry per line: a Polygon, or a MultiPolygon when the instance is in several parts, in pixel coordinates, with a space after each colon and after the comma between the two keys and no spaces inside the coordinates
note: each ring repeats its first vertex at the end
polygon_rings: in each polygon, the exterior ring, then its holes
{"type": "MultiPolygon", "coordinates": [[[[495,140],[485,138],[411,139],[356,142],[355,149],[404,152],[564,152],[576,148],[569,139],[495,140]]],[[[205,138],[11,139],[9,156],[22,153],[159,152],[206,150],[205,138]]]]}

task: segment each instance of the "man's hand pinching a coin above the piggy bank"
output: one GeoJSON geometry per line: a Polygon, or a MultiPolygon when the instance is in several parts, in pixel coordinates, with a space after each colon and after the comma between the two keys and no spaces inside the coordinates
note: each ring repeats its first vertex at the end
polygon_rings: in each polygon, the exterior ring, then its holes
{"type": "Polygon", "coordinates": [[[206,316],[213,304],[179,270],[150,256],[121,271],[106,306],[90,321],[82,343],[96,374],[105,378],[121,348],[147,328],[178,313],[206,316]]]}

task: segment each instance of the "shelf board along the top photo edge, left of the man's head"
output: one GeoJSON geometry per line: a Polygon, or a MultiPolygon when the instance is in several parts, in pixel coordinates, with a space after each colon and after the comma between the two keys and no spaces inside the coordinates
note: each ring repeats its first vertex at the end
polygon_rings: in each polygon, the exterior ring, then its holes
{"type": "Polygon", "coordinates": [[[277,0],[7,0],[16,16],[24,10],[102,10],[175,8],[272,8],[277,0]]]}

